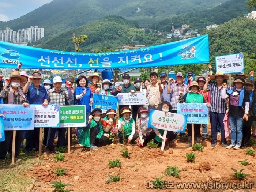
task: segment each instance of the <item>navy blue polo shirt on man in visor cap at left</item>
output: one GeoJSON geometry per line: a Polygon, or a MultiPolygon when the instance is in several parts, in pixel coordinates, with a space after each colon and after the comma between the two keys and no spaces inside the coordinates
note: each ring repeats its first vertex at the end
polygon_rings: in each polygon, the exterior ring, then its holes
{"type": "Polygon", "coordinates": [[[48,99],[47,91],[40,86],[38,89],[34,85],[30,85],[27,90],[27,100],[30,104],[43,104],[45,99],[48,99]]]}

